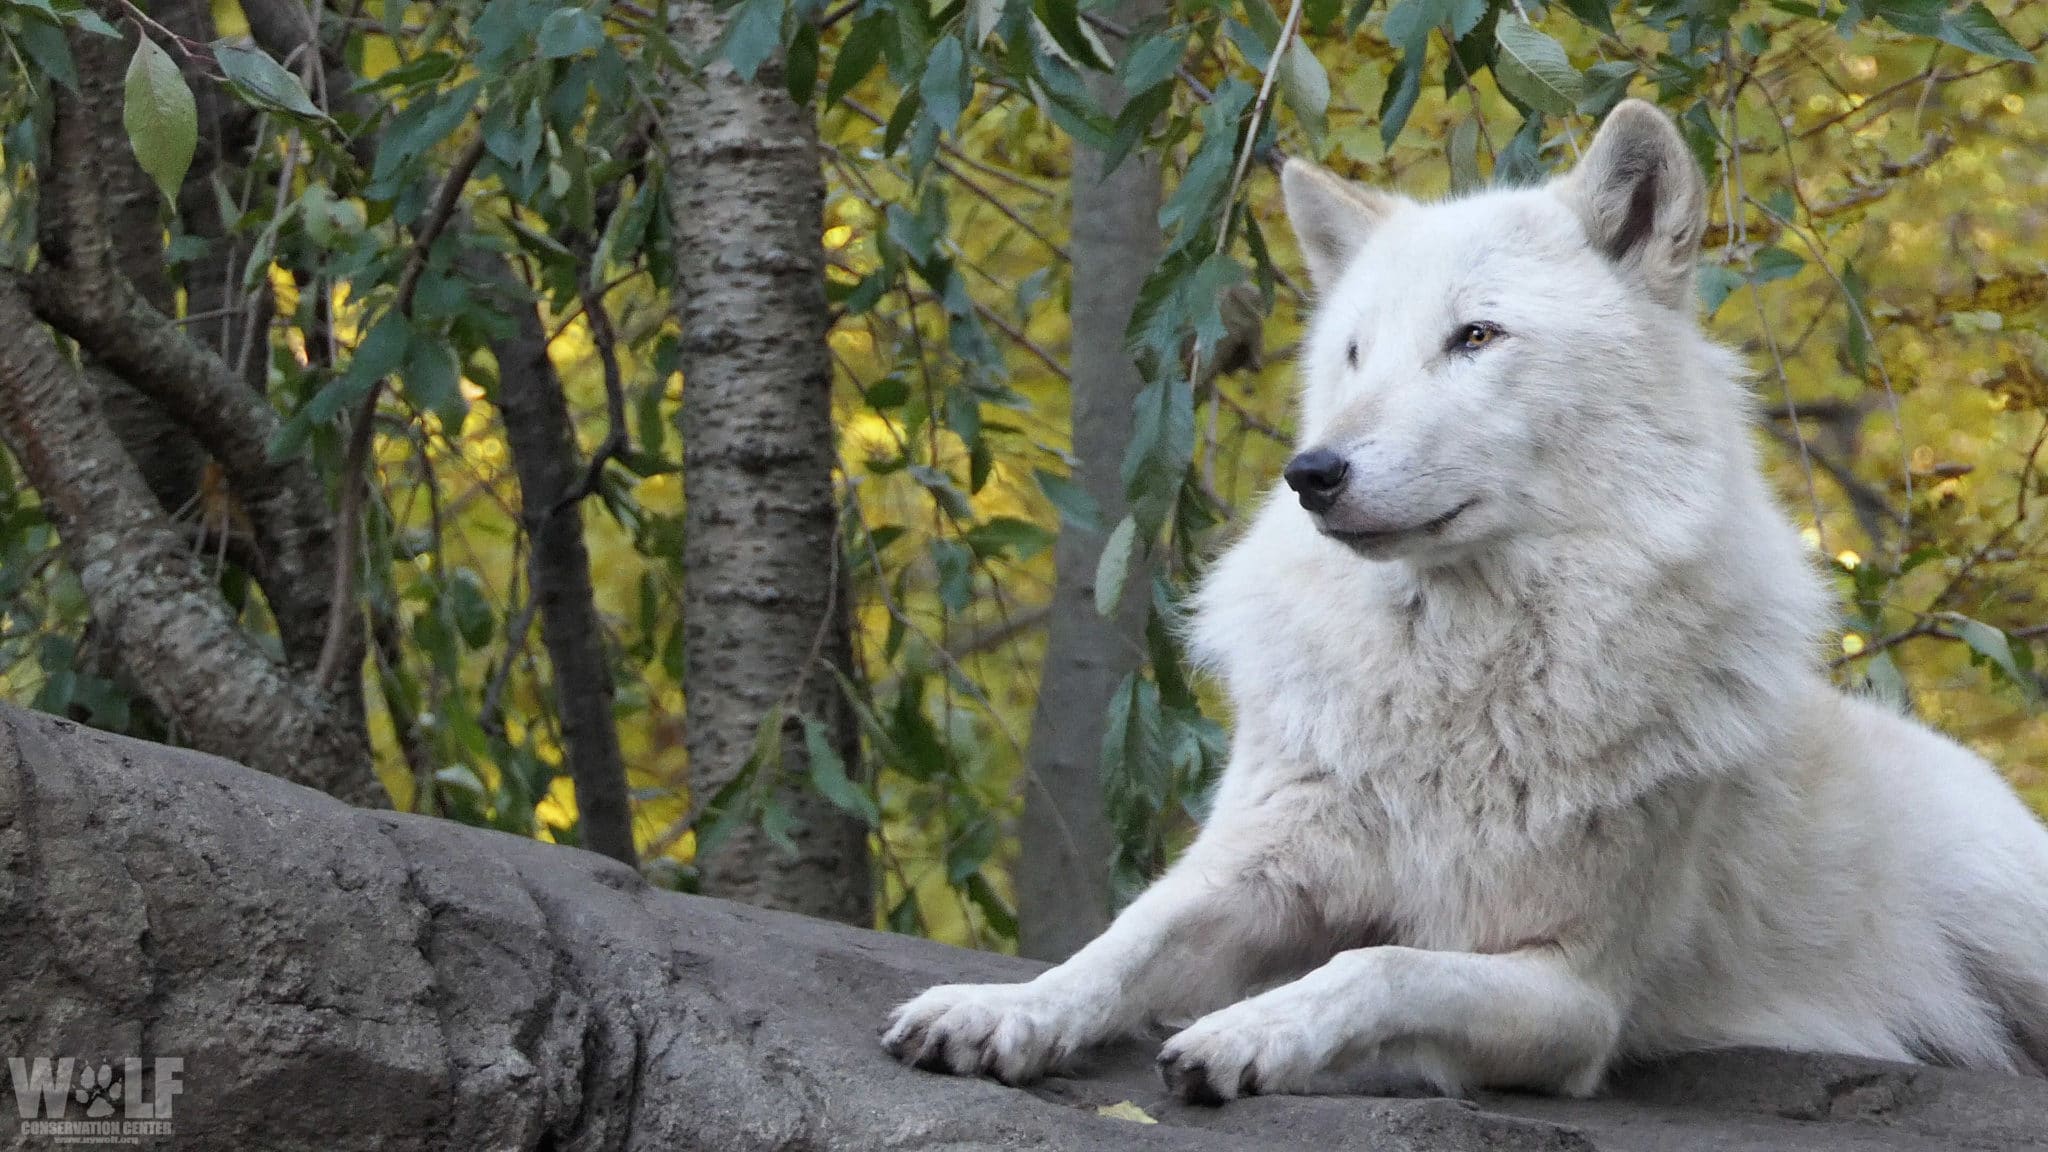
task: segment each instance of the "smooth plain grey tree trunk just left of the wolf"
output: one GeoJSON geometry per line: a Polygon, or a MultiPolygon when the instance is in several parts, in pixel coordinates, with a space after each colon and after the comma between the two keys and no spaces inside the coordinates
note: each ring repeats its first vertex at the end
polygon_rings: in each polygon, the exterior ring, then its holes
{"type": "MultiPolygon", "coordinates": [[[[1141,25],[1157,0],[1114,10],[1141,25]]],[[[1122,84],[1092,76],[1110,115],[1122,84]]],[[[1124,515],[1122,463],[1133,404],[1145,387],[1124,330],[1145,277],[1159,262],[1159,166],[1143,150],[1114,172],[1102,154],[1073,150],[1073,480],[1096,498],[1106,525],[1124,515]]],[[[1053,549],[1057,584],[1047,623],[1038,713],[1030,726],[1030,779],[1018,828],[1018,951],[1065,959],[1110,922],[1110,822],[1102,795],[1102,732],[1116,685],[1143,660],[1151,576],[1133,570],[1116,619],[1096,613],[1100,533],[1067,527],[1053,549]]]]}

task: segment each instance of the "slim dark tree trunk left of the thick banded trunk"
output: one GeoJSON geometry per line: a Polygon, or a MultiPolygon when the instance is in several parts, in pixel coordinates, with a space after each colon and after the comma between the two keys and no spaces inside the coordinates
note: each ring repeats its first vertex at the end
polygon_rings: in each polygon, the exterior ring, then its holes
{"type": "Polygon", "coordinates": [[[635,865],[633,806],[612,719],[612,662],[604,652],[584,547],[584,504],[575,496],[584,463],[575,424],[547,330],[530,303],[514,307],[518,334],[498,340],[498,408],[518,474],[520,523],[530,541],[528,586],[541,615],[541,642],[553,670],[561,715],[563,758],[575,781],[575,814],[584,847],[635,865]]]}

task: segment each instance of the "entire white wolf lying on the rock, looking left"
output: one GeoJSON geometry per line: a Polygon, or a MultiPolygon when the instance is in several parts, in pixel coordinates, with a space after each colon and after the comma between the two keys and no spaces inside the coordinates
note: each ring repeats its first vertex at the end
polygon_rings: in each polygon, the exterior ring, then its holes
{"type": "Polygon", "coordinates": [[[1073,959],[932,988],[887,1047],[1016,1082],[1192,1019],[1159,1062],[1210,1103],[1722,1045],[2048,1070],[2048,832],[1825,681],[1671,121],[1624,102],[1569,176],[1448,203],[1282,182],[1307,451],[1198,599],[1214,814],[1073,959]]]}

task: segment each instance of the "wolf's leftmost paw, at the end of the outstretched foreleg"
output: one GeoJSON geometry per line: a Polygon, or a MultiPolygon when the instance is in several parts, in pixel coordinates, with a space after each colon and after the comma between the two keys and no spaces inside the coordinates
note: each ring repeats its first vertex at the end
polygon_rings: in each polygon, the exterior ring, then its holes
{"type": "Polygon", "coordinates": [[[942,984],[889,1017],[883,1047],[905,1064],[1022,1084],[1102,1039],[1092,998],[1032,984],[942,984]]]}

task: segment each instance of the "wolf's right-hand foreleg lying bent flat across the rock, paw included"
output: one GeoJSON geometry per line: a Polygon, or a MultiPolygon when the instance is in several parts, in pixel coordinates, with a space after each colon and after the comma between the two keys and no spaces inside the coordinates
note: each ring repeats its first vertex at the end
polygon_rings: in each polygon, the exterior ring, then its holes
{"type": "Polygon", "coordinates": [[[1159,1066],[1196,1103],[1303,1093],[1348,1056],[1446,1093],[1499,1084],[1585,1095],[1599,1086],[1620,1023],[1618,998],[1556,947],[1366,947],[1202,1017],[1165,1043],[1159,1066]]]}

